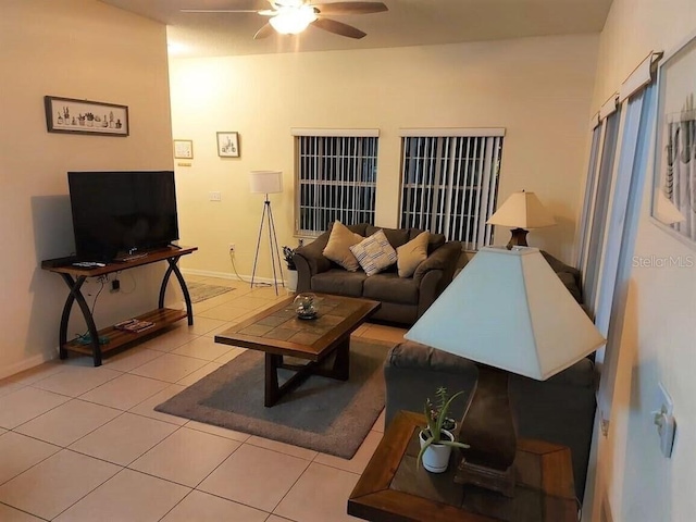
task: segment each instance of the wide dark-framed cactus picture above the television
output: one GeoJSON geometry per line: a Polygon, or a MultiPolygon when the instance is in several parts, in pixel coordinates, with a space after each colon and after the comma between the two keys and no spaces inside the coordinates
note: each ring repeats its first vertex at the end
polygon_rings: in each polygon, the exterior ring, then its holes
{"type": "Polygon", "coordinates": [[[121,136],[129,134],[128,108],[101,101],[44,97],[49,133],[121,136]]]}

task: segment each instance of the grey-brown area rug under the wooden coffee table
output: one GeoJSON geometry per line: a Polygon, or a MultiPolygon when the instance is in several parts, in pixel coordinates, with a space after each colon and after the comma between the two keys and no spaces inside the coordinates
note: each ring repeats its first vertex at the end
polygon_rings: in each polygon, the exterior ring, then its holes
{"type": "MultiPolygon", "coordinates": [[[[351,339],[348,381],[312,375],[272,408],[263,406],[264,355],[247,350],[154,409],[350,459],[384,408],[391,346],[351,339]]],[[[279,383],[291,374],[281,371],[279,383]]]]}

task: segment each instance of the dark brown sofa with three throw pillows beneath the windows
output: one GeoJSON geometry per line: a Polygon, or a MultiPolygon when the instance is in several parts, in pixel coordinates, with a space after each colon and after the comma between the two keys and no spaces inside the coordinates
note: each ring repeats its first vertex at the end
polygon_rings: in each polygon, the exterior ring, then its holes
{"type": "MultiPolygon", "coordinates": [[[[363,237],[383,229],[394,248],[413,239],[417,228],[384,228],[360,223],[349,225],[350,231],[363,237]]],[[[362,270],[348,272],[322,254],[331,227],[313,243],[295,251],[297,291],[316,291],[348,297],[364,297],[382,302],[373,315],[378,321],[412,325],[452,281],[461,253],[459,241],[446,241],[440,234],[431,234],[427,259],[411,277],[399,277],[396,265],[385,272],[368,276],[362,270]]]]}

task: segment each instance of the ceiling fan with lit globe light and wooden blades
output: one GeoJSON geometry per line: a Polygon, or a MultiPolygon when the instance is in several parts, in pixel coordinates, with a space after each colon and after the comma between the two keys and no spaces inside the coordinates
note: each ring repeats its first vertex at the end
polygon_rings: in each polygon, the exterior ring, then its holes
{"type": "Polygon", "coordinates": [[[382,2],[333,2],[312,3],[310,0],[269,0],[272,9],[182,9],[183,13],[258,13],[269,16],[269,22],[261,27],[253,39],[266,38],[273,30],[282,35],[296,35],[304,30],[310,24],[348,38],[362,38],[366,34],[353,27],[325,16],[344,14],[370,14],[388,11],[382,2]]]}

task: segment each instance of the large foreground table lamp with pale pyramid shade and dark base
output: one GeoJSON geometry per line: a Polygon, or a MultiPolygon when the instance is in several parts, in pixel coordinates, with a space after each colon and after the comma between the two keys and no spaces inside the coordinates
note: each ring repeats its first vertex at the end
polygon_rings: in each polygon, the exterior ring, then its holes
{"type": "Polygon", "coordinates": [[[544,381],[605,343],[539,250],[529,247],[482,248],[405,337],[478,363],[459,432],[471,447],[455,481],[507,496],[517,451],[509,372],[544,381]]]}

